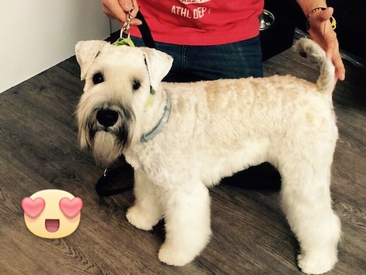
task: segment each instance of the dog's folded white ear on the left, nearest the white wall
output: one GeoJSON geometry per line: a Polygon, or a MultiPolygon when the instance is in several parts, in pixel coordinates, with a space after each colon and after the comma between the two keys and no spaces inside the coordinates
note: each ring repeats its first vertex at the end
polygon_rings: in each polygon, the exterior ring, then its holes
{"type": "Polygon", "coordinates": [[[93,60],[106,44],[106,41],[79,41],[75,46],[76,60],[80,65],[80,80],[84,80],[93,60]]]}

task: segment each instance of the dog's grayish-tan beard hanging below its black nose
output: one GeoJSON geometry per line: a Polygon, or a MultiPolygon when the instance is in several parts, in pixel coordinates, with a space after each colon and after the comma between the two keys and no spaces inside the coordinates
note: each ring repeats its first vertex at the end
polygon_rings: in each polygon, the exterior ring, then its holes
{"type": "Polygon", "coordinates": [[[122,155],[123,147],[116,135],[106,131],[98,131],[93,138],[92,148],[95,163],[107,167],[122,155]]]}

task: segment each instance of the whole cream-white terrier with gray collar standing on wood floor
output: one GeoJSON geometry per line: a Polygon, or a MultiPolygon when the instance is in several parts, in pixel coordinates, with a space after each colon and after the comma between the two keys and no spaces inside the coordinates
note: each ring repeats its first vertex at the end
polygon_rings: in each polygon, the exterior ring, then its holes
{"type": "Polygon", "coordinates": [[[282,208],[299,241],[301,271],[334,267],[341,237],[330,197],[338,138],[334,66],[309,39],[295,47],[319,63],[317,84],[277,75],[165,83],[168,54],[105,41],[76,45],[85,80],[78,141],[101,166],[124,155],[134,168],[135,203],[126,218],[142,230],[165,220],[161,262],[190,263],[209,242],[209,187],[270,162],[282,177],[282,208]]]}

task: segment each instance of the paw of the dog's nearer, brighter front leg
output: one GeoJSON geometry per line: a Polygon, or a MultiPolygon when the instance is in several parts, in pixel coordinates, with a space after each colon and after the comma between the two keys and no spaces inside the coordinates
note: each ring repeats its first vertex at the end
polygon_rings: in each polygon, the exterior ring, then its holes
{"type": "Polygon", "coordinates": [[[174,248],[174,245],[163,243],[159,250],[159,260],[167,265],[183,266],[190,263],[196,254],[174,248]]]}

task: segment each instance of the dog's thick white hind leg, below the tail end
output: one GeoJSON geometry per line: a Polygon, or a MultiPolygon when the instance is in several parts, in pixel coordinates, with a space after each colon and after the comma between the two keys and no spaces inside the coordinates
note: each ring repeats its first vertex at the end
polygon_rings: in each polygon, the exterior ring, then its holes
{"type": "Polygon", "coordinates": [[[298,265],[306,274],[328,272],[337,261],[341,223],[331,206],[331,159],[325,158],[282,165],[282,207],[299,241],[298,265]]]}

